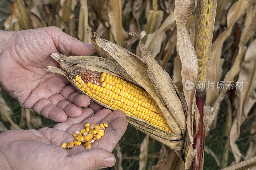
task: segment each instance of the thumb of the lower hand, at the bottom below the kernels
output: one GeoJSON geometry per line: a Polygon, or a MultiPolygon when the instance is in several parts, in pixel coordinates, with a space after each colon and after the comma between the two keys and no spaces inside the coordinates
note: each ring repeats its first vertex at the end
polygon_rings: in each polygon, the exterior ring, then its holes
{"type": "Polygon", "coordinates": [[[101,148],[92,148],[70,157],[72,161],[69,165],[72,169],[100,169],[112,167],[116,163],[115,156],[101,148]]]}

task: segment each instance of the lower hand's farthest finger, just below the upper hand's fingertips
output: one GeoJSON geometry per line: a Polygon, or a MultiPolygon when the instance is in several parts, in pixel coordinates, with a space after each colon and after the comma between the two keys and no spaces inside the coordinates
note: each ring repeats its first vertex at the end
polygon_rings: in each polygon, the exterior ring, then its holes
{"type": "MultiPolygon", "coordinates": [[[[90,108],[83,108],[82,115],[80,117],[68,117],[67,121],[58,123],[55,126],[53,126],[53,128],[60,129],[62,131],[66,131],[70,126],[72,126],[74,124],[82,123],[84,121],[84,119],[92,116],[92,114],[93,114],[93,110],[92,109],[90,109],[90,108]]],[[[81,129],[78,129],[78,130],[81,130],[81,129]]],[[[78,131],[78,130],[76,130],[76,131],[78,131]]]]}

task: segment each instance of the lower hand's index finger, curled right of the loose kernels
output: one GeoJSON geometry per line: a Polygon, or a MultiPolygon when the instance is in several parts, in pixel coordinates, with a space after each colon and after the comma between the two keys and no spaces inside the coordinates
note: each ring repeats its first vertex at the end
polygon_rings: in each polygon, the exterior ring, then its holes
{"type": "Polygon", "coordinates": [[[93,142],[92,148],[103,148],[112,152],[127,128],[125,115],[122,111],[116,110],[100,123],[107,123],[109,126],[100,140],[93,142]]]}

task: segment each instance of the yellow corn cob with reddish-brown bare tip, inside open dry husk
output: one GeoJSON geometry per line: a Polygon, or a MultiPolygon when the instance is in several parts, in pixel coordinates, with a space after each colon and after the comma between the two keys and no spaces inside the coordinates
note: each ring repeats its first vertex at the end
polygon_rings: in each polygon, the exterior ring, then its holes
{"type": "Polygon", "coordinates": [[[172,132],[155,101],[139,86],[115,75],[91,71],[81,66],[73,69],[71,77],[81,90],[96,100],[172,132]]]}

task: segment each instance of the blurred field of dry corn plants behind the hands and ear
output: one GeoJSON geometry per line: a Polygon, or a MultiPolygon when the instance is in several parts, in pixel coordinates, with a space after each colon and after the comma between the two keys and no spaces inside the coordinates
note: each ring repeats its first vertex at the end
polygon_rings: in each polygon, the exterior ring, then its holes
{"type": "MultiPolygon", "coordinates": [[[[87,26],[90,26],[99,37],[139,56],[138,39],[129,36],[128,32],[139,34],[145,30],[147,36],[143,43],[182,92],[174,5],[175,0],[0,0],[0,27],[20,31],[57,26],[71,36],[91,43],[87,35],[87,26]]],[[[187,25],[193,43],[195,15],[196,5],[187,25]]],[[[205,105],[217,110],[205,141],[206,170],[222,169],[256,155],[255,19],[255,0],[218,1],[207,81],[243,80],[247,85],[240,91],[206,90],[205,105]],[[241,94],[245,94],[243,99],[239,97],[241,94]],[[238,139],[234,135],[237,133],[238,139]]],[[[56,124],[32,110],[21,108],[4,91],[0,94],[0,132],[40,129],[56,124]]],[[[150,170],[166,154],[161,143],[131,125],[113,153],[116,156],[113,168],[119,170],[150,170]]]]}

